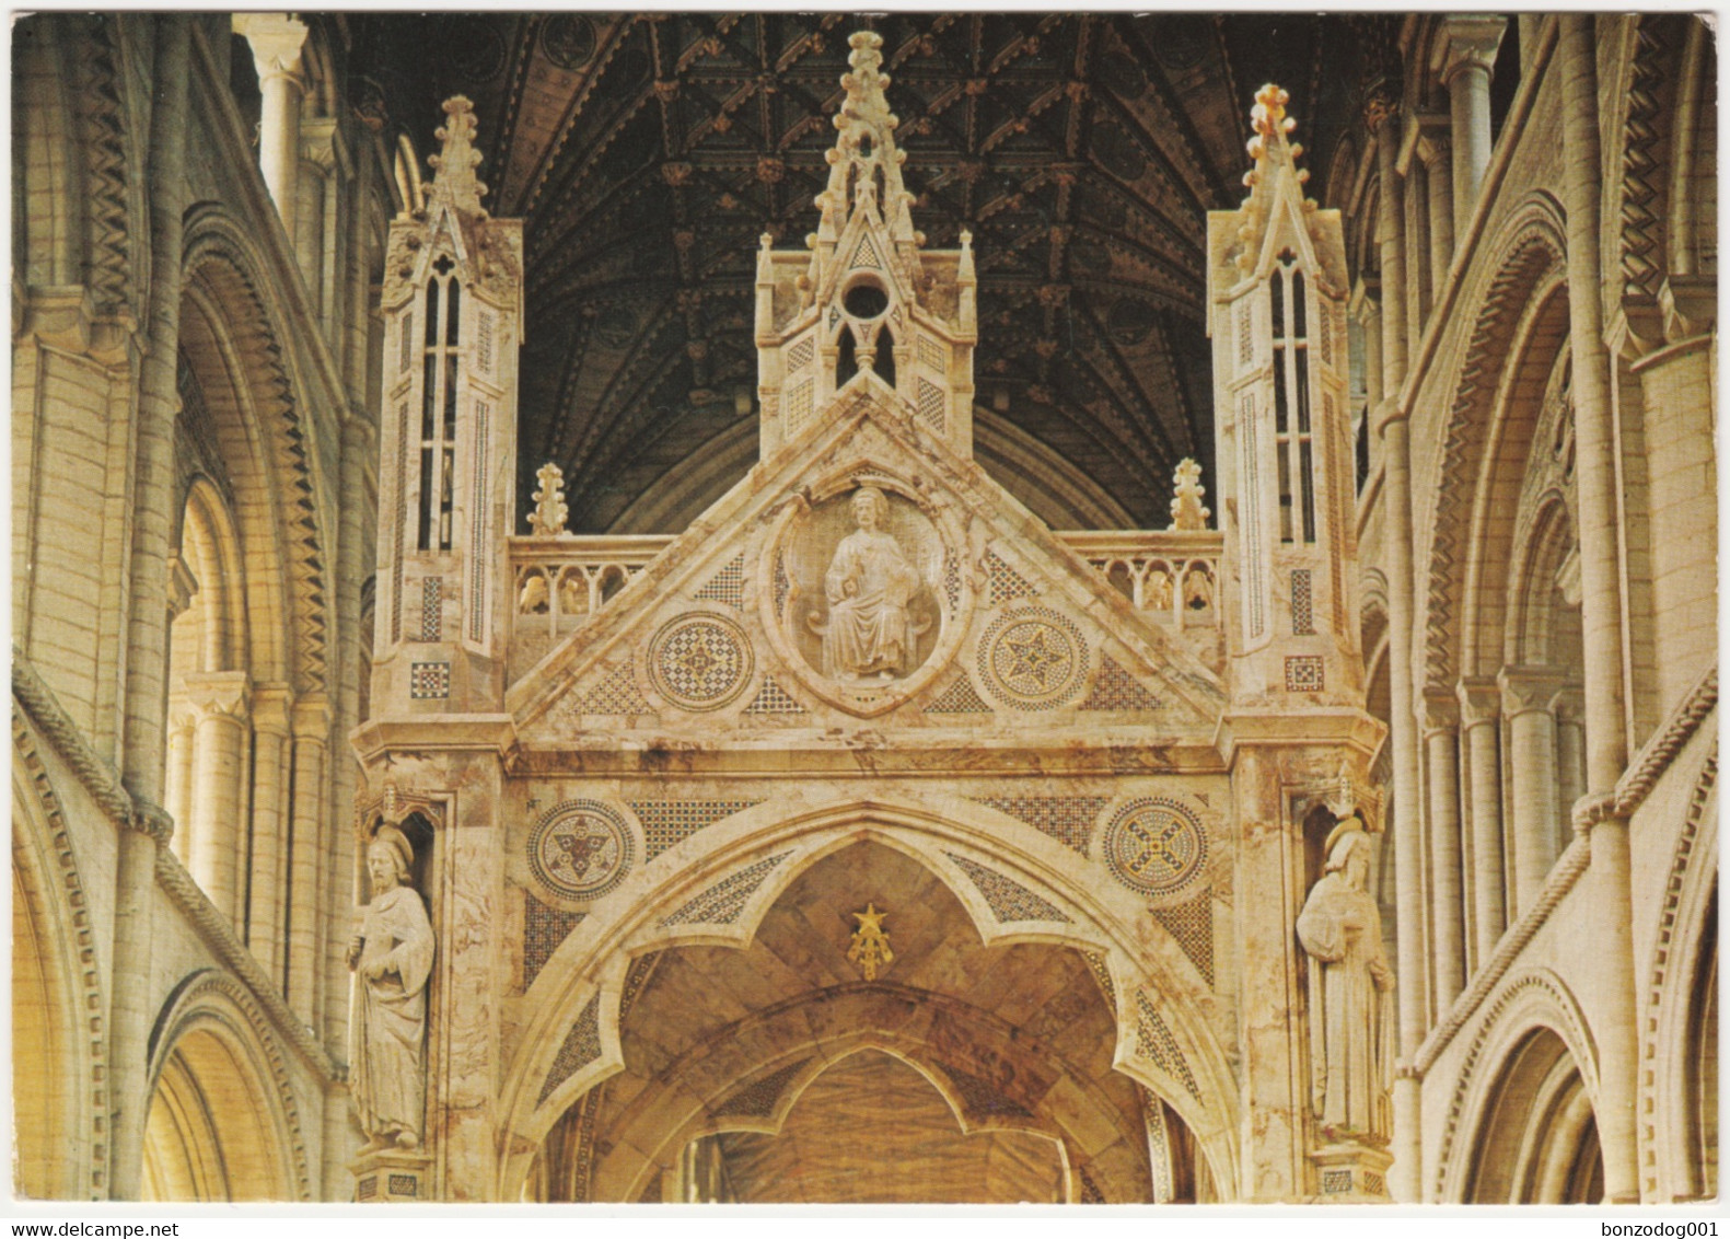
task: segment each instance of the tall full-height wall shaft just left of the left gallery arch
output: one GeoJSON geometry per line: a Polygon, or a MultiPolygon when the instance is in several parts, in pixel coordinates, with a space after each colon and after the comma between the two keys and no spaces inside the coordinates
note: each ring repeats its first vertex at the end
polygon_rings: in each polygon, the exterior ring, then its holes
{"type": "Polygon", "coordinates": [[[138,1199],[144,1189],[144,1125],[149,1113],[152,1009],[151,912],[156,853],[173,824],[161,810],[168,678],[168,547],[173,523],[175,417],[180,407],[180,256],[187,182],[187,81],[192,76],[192,19],[159,16],[145,201],[151,211],[151,291],[138,369],[130,602],[126,611],[126,696],[121,779],[133,798],[131,829],[119,832],[114,865],[114,985],[109,995],[107,1102],[109,1197],[138,1199]]]}

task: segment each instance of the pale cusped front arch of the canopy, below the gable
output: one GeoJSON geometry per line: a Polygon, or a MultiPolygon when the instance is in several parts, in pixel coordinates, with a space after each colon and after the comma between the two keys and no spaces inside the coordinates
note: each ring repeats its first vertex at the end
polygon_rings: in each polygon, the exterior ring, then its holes
{"type": "Polygon", "coordinates": [[[1111,995],[1118,1043],[1112,1064],[1166,1097],[1197,1133],[1216,1175],[1230,1178],[1237,1087],[1216,1028],[1216,1021],[1227,1016],[1169,933],[1145,915],[1145,905],[1123,888],[1099,883],[1097,870],[1088,874],[1071,850],[1028,825],[1005,829],[1002,815],[979,806],[971,813],[962,808],[953,817],[939,817],[929,808],[865,801],[813,808],[787,819],[775,806],[763,805],[718,831],[702,841],[701,858],[694,848],[682,844],[682,850],[666,853],[626,879],[607,896],[609,907],[626,912],[602,917],[597,908],[541,969],[516,1021],[522,1033],[509,1052],[502,1088],[500,1130],[507,1158],[500,1191],[514,1194],[559,1114],[623,1068],[619,1002],[630,985],[630,959],[680,945],[749,945],[775,900],[799,874],[863,839],[908,855],[936,874],[960,902],[984,945],[1048,943],[1097,957],[1114,978],[1111,995]],[[1005,834],[1012,836],[1010,843],[1005,843],[1005,834]],[[957,858],[990,865],[1064,919],[1000,922],[957,858]],[[775,860],[770,876],[732,910],[727,922],[664,924],[706,889],[765,860],[775,860]],[[1182,1047],[1192,1073],[1189,1085],[1161,1071],[1138,1049],[1135,995],[1144,992],[1161,998],[1173,1042],[1182,1047]],[[547,1088],[548,1073],[561,1069],[559,1054],[569,1052],[571,1019],[588,1019],[590,1002],[595,1002],[595,1040],[578,1054],[583,1059],[580,1066],[547,1088]]]}

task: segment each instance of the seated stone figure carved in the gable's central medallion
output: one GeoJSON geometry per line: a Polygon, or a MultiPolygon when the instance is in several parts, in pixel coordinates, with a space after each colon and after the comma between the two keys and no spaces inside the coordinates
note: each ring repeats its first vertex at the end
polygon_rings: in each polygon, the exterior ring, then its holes
{"type": "MultiPolygon", "coordinates": [[[[882,526],[889,500],[875,486],[853,495],[858,530],[836,547],[823,588],[829,621],[823,635],[823,675],[834,680],[894,680],[913,659],[915,626],[910,604],[920,588],[919,569],[882,526]]],[[[815,626],[815,625],[813,625],[815,626]]]]}

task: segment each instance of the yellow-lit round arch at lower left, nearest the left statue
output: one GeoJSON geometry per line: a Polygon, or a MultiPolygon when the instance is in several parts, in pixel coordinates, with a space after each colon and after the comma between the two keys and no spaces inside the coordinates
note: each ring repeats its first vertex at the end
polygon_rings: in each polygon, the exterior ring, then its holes
{"type": "Polygon", "coordinates": [[[204,969],[176,986],[147,1078],[145,1199],[311,1199],[282,1050],[239,981],[204,969]]]}

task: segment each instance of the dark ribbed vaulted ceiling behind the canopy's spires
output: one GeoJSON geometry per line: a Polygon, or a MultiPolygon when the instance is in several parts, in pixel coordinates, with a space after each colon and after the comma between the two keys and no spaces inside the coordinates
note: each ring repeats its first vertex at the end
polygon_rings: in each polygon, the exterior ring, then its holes
{"type": "MultiPolygon", "coordinates": [[[[490,208],[522,216],[519,495],[564,467],[580,531],[675,531],[754,460],[758,237],[817,223],[846,35],[884,36],[915,225],[979,263],[979,457],[1047,519],[1163,528],[1213,476],[1206,213],[1249,104],[1292,93],[1320,196],[1365,22],[1130,14],[370,14],[355,67],[417,149],[467,93],[490,208]],[[1059,465],[1048,469],[1052,476],[1059,465]],[[1017,476],[1021,474],[1021,476],[1017,476]]],[[[1377,31],[1382,33],[1382,31],[1377,31]]]]}

